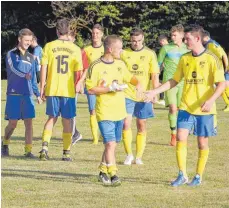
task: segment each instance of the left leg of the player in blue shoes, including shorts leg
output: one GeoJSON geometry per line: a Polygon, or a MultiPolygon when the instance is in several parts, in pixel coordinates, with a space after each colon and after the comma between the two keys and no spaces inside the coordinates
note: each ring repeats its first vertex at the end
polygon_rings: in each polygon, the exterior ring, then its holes
{"type": "Polygon", "coordinates": [[[193,129],[195,118],[186,111],[179,111],[177,120],[177,145],[176,158],[179,173],[177,178],[172,181],[172,186],[180,186],[188,182],[186,172],[187,161],[187,139],[189,132],[193,129]]]}

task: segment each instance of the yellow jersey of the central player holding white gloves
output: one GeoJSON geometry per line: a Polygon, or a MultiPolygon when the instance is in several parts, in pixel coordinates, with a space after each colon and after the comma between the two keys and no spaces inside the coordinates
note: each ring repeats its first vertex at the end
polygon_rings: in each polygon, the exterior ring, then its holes
{"type": "MultiPolygon", "coordinates": [[[[106,63],[101,59],[93,62],[88,70],[86,87],[88,90],[99,85],[104,80],[106,85],[117,80],[119,84],[129,83],[133,76],[121,60],[106,63]]],[[[120,121],[127,116],[124,92],[109,92],[96,95],[96,117],[98,121],[120,121]]]]}

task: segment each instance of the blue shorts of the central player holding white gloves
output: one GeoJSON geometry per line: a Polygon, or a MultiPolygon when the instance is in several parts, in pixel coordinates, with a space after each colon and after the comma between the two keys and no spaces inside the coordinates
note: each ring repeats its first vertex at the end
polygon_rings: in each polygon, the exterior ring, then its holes
{"type": "Polygon", "coordinates": [[[103,137],[103,143],[120,142],[122,138],[124,120],[121,121],[99,121],[99,130],[103,137]]]}

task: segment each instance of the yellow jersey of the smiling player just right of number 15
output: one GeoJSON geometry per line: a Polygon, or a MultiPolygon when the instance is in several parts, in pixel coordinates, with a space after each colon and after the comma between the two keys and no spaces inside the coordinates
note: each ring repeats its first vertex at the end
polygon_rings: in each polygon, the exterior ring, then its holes
{"type": "Polygon", "coordinates": [[[100,58],[104,54],[104,46],[101,45],[100,47],[93,47],[92,45],[87,46],[84,48],[84,51],[87,55],[89,65],[100,58]]]}

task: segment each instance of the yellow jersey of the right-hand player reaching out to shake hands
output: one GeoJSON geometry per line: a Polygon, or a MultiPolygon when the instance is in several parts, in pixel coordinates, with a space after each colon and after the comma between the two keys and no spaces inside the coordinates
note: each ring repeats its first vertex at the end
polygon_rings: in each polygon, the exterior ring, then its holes
{"type": "Polygon", "coordinates": [[[225,81],[224,70],[219,59],[209,50],[198,56],[189,52],[181,57],[173,76],[176,82],[184,78],[180,110],[193,115],[216,114],[214,103],[210,112],[202,112],[201,106],[214,93],[214,84],[225,81]]]}

